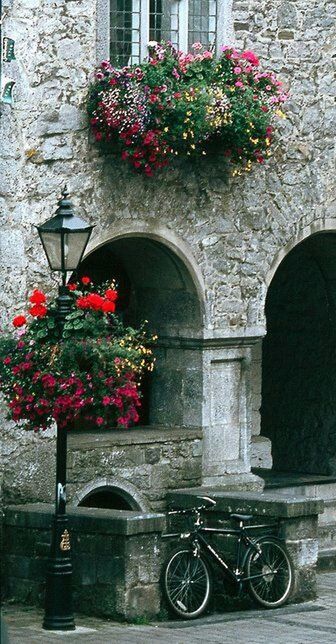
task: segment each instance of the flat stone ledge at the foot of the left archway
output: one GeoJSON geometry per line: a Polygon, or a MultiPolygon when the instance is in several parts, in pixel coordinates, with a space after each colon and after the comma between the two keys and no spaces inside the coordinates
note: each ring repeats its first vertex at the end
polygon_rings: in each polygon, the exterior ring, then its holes
{"type": "Polygon", "coordinates": [[[153,425],[130,430],[75,430],[69,432],[70,450],[92,449],[114,445],[139,445],[141,443],[169,443],[203,438],[201,427],[167,427],[153,425]]]}

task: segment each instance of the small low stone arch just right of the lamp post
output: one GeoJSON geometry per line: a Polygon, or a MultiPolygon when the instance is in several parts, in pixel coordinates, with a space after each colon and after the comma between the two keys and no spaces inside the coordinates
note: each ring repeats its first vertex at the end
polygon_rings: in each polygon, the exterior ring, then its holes
{"type": "MultiPolygon", "coordinates": [[[[90,481],[76,492],[71,505],[75,507],[84,505],[85,500],[101,492],[110,492],[112,495],[120,497],[128,506],[125,509],[141,510],[142,512],[150,511],[147,500],[132,483],[115,477],[98,478],[90,481]]],[[[104,506],[100,505],[100,507],[104,506]]]]}

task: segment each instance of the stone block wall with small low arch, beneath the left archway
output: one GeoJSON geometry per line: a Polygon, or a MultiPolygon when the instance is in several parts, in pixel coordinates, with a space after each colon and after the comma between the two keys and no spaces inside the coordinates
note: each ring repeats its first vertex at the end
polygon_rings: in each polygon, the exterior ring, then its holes
{"type": "Polygon", "coordinates": [[[67,492],[72,505],[101,487],[115,487],[141,510],[162,510],[168,490],[199,485],[202,430],[152,427],[73,432],[68,441],[67,492]]]}

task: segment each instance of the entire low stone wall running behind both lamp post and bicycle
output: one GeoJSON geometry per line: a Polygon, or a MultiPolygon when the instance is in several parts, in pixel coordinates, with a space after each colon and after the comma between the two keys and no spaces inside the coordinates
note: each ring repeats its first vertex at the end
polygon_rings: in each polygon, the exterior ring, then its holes
{"type": "MultiPolygon", "coordinates": [[[[168,498],[175,507],[185,508],[198,505],[197,494],[206,493],[206,488],[180,490],[170,493],[168,498]]],[[[280,521],[280,535],[295,568],[290,601],[315,598],[317,517],[323,502],[303,497],[279,499],[270,494],[220,491],[211,494],[217,506],[207,514],[209,525],[232,525],[231,512],[252,514],[253,523],[257,524],[280,521]]],[[[6,599],[43,605],[52,511],[52,506],[46,504],[11,506],[6,510],[2,557],[5,572],[2,592],[6,599]]],[[[174,548],[174,542],[162,540],[166,529],[164,515],[76,508],[69,510],[68,518],[76,611],[132,621],[144,616],[158,617],[162,609],[167,609],[162,603],[159,582],[167,552],[174,548]]],[[[179,525],[178,531],[185,532],[186,520],[180,519],[179,525]]],[[[235,543],[227,538],[219,539],[218,546],[228,556],[235,552],[235,543]]],[[[223,592],[223,585],[219,592],[223,592]]],[[[234,603],[237,604],[236,598],[234,603]]],[[[232,605],[232,598],[221,599],[217,609],[225,610],[228,605],[232,605]]]]}

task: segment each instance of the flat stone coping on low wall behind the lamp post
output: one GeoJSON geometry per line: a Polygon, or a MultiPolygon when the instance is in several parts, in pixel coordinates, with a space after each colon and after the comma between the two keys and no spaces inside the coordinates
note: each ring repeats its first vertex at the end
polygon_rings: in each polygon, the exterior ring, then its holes
{"type": "MultiPolygon", "coordinates": [[[[54,506],[47,503],[12,505],[5,511],[4,523],[20,528],[51,527],[54,506]]],[[[67,513],[71,529],[94,534],[131,536],[162,532],[166,526],[163,514],[139,511],[105,510],[100,508],[71,508],[67,513]]]]}

